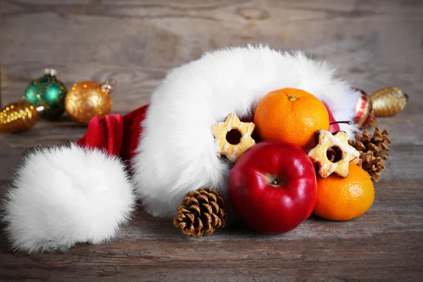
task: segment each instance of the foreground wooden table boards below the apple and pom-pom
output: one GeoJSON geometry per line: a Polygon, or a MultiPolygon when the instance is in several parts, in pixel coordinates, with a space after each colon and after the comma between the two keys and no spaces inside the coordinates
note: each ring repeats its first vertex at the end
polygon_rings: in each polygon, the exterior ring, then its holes
{"type": "MultiPolygon", "coordinates": [[[[62,254],[14,255],[1,235],[1,278],[44,281],[417,281],[423,264],[423,180],[381,180],[369,212],[352,221],[315,216],[285,235],[244,226],[185,238],[171,220],[138,211],[118,238],[62,254]],[[82,276],[83,275],[83,276],[82,276]],[[83,278],[82,278],[83,277],[83,278]],[[230,278],[231,277],[231,278],[230,278]]],[[[4,190],[1,191],[4,193],[4,190]]]]}

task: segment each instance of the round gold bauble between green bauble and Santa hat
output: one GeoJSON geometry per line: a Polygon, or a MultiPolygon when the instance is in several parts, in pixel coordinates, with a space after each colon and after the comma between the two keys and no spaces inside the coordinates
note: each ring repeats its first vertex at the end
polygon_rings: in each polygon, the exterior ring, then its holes
{"type": "Polygon", "coordinates": [[[65,99],[68,116],[76,123],[87,125],[94,116],[106,116],[111,111],[110,92],[114,83],[94,81],[75,83],[65,99]]]}

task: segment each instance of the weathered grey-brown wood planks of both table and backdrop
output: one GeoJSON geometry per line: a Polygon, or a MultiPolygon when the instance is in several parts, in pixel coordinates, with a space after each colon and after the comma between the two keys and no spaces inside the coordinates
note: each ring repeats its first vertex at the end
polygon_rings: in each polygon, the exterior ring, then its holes
{"type": "MultiPolygon", "coordinates": [[[[379,118],[392,139],[376,198],[357,219],[312,216],[284,235],[242,225],[185,238],[141,209],[118,238],[65,253],[13,253],[0,232],[0,281],[423,281],[423,2],[1,0],[3,105],[45,67],[72,85],[115,78],[114,113],[148,102],[169,68],[226,45],[266,43],[326,59],[357,87],[395,85],[405,111],[379,118]]],[[[0,135],[0,199],[23,154],[85,128],[40,122],[0,135]]]]}

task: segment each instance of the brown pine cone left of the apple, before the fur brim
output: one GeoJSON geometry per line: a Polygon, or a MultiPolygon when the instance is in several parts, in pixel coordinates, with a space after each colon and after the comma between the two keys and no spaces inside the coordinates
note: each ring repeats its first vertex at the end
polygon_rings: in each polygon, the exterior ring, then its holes
{"type": "Polygon", "coordinates": [[[184,235],[200,237],[225,226],[226,204],[216,190],[199,188],[188,192],[176,210],[173,225],[184,235]]]}

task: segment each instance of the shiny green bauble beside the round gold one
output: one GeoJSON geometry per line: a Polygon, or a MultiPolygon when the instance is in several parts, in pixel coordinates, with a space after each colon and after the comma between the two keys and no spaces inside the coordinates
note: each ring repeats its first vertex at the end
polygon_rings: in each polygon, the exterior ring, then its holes
{"type": "Polygon", "coordinates": [[[25,99],[35,106],[43,106],[39,116],[54,120],[59,118],[65,111],[65,97],[68,90],[60,80],[56,78],[56,70],[46,68],[44,76],[30,82],[25,90],[25,99]]]}

